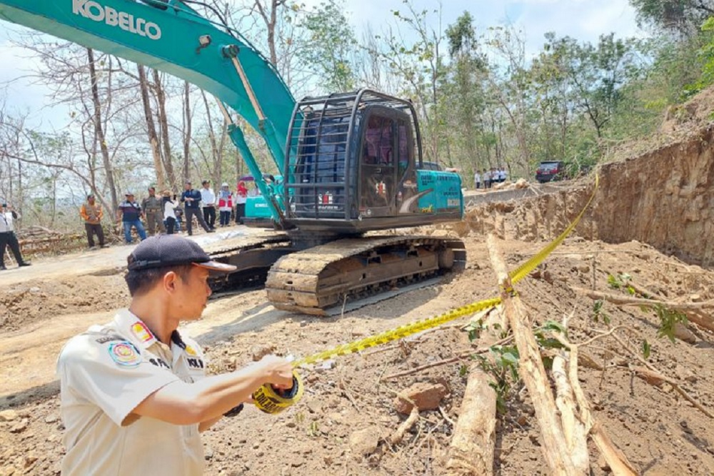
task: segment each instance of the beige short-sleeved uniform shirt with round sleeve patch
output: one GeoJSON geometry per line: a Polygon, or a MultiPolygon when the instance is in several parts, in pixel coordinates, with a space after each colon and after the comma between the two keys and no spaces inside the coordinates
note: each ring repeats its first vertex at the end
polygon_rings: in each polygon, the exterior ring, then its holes
{"type": "Polygon", "coordinates": [[[203,351],[175,332],[157,340],[129,310],[69,340],[57,362],[66,455],[62,475],[202,475],[198,425],[130,415],[169,383],[205,376],[203,351]]]}

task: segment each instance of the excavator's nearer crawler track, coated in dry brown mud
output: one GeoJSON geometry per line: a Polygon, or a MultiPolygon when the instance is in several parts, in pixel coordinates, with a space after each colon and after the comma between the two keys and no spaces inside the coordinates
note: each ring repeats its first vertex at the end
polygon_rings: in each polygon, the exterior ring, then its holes
{"type": "MultiPolygon", "coordinates": [[[[463,267],[463,241],[430,236],[345,238],[291,253],[268,273],[268,300],[281,310],[329,315],[328,308],[405,288],[463,267]]],[[[388,293],[393,295],[393,293],[388,293]]],[[[365,301],[366,305],[368,302],[365,301]]],[[[359,305],[351,305],[351,308],[359,305]]]]}

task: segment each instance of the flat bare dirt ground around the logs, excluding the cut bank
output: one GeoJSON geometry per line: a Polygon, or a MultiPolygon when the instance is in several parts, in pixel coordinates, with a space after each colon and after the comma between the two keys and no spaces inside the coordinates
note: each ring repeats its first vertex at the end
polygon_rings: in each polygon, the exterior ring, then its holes
{"type": "MultiPolygon", "coordinates": [[[[447,276],[441,285],[415,290],[336,318],[311,318],[276,311],[266,305],[262,290],[211,301],[205,317],[185,332],[208,348],[211,370],[243,365],[266,350],[304,356],[355,338],[396,327],[495,293],[483,236],[465,238],[468,267],[447,276]]],[[[542,243],[507,240],[501,243],[508,265],[526,260],[542,243]]],[[[112,253],[128,253],[129,248],[112,253]]],[[[108,252],[109,253],[109,252],[108,252]]],[[[78,257],[76,259],[80,259],[78,257]]],[[[103,260],[104,263],[106,260],[103,260]]],[[[66,257],[66,264],[72,262],[66,257]]],[[[111,319],[112,310],[126,304],[121,274],[70,278],[41,276],[44,263],[3,273],[1,298],[5,324],[0,332],[2,385],[0,390],[0,474],[58,474],[63,453],[57,385],[52,375],[61,343],[91,323],[111,319]],[[11,274],[19,281],[15,285],[11,274]],[[24,278],[24,279],[21,279],[24,278]],[[39,289],[37,289],[39,288],[39,289]]],[[[50,263],[51,264],[51,263],[50,263]]],[[[106,267],[106,264],[104,264],[106,267]]],[[[90,271],[91,273],[92,271],[90,271]]],[[[577,236],[539,268],[538,278],[518,285],[523,302],[538,322],[573,314],[571,338],[576,342],[604,329],[592,317],[593,301],[572,286],[610,290],[608,275],[628,273],[633,283],[671,299],[714,297],[714,272],[687,265],[638,242],[609,245],[577,236]],[[594,263],[594,265],[593,265],[594,263]]],[[[102,274],[102,273],[99,273],[102,274]]],[[[677,380],[702,405],[714,409],[714,338],[700,332],[685,344],[657,338],[653,313],[605,304],[611,325],[627,325],[652,343],[650,362],[677,380]]],[[[281,415],[263,415],[248,408],[224,419],[204,435],[208,475],[438,475],[458,419],[466,376],[463,363],[452,363],[403,378],[386,376],[418,365],[450,358],[471,348],[461,325],[411,338],[403,345],[348,355],[303,370],[303,400],[281,415]],[[406,417],[395,410],[394,395],[413,383],[441,383],[448,393],[441,411],[421,412],[418,424],[401,444],[386,438],[406,417]]],[[[605,371],[580,370],[580,379],[602,422],[631,462],[645,475],[680,470],[686,475],[714,473],[714,427],[711,420],[668,388],[655,388],[633,378],[614,341],[603,340],[590,350],[605,371]],[[615,365],[617,364],[617,365],[615,365]]],[[[496,474],[547,474],[540,452],[540,435],[522,384],[508,400],[508,412],[498,420],[496,474]]],[[[595,448],[593,474],[604,475],[595,448]]]]}

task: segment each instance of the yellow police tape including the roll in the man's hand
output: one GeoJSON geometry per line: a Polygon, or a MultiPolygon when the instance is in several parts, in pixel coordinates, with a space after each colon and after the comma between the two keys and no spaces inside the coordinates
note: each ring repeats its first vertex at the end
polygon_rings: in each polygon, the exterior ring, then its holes
{"type": "MultiPolygon", "coordinates": [[[[560,243],[563,243],[565,237],[568,236],[570,232],[575,229],[575,226],[578,226],[580,218],[583,218],[583,215],[585,215],[585,211],[588,210],[588,207],[590,207],[590,203],[592,203],[593,198],[595,198],[595,192],[598,191],[599,181],[600,179],[598,175],[595,174],[595,187],[593,188],[593,193],[592,195],[590,195],[588,203],[585,203],[583,210],[581,210],[578,216],[575,217],[575,220],[573,220],[570,225],[568,225],[568,228],[565,228],[565,231],[563,231],[563,233],[560,233],[560,236],[558,236],[558,238],[555,238],[555,240],[548,243],[548,245],[545,245],[543,249],[538,251],[538,253],[535,253],[535,255],[533,255],[531,259],[526,261],[526,263],[523,263],[522,265],[518,266],[518,268],[511,271],[511,273],[508,273],[508,275],[511,277],[511,284],[518,283],[518,281],[525,278],[528,273],[531,273],[531,271],[533,271],[536,266],[538,266],[540,263],[543,263],[543,260],[545,260],[545,258],[547,258],[550,253],[553,253],[553,250],[555,250],[555,248],[558,248],[558,245],[560,245],[560,243]]],[[[417,320],[413,323],[400,325],[398,328],[386,330],[382,333],[371,335],[360,340],[355,340],[351,343],[338,345],[335,348],[324,350],[323,352],[319,352],[313,355],[309,355],[306,358],[296,360],[295,362],[293,362],[293,368],[298,368],[301,365],[318,363],[323,360],[338,357],[340,355],[361,352],[362,350],[371,347],[376,347],[377,345],[383,345],[386,343],[393,342],[394,340],[403,339],[408,337],[409,335],[414,335],[417,333],[421,333],[424,330],[436,328],[452,320],[461,318],[465,315],[472,315],[482,310],[493,308],[494,306],[500,303],[501,298],[481,300],[476,303],[464,305],[461,308],[450,310],[448,311],[448,313],[437,315],[433,318],[417,320]]],[[[258,409],[262,410],[263,412],[275,414],[282,412],[287,407],[290,407],[291,405],[295,404],[298,400],[300,400],[302,394],[302,380],[297,371],[293,370],[293,388],[291,389],[289,395],[280,395],[276,390],[271,387],[271,385],[263,385],[256,391],[255,394],[253,394],[253,402],[255,403],[256,407],[258,407],[258,409]]]]}

